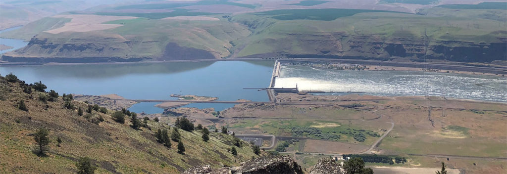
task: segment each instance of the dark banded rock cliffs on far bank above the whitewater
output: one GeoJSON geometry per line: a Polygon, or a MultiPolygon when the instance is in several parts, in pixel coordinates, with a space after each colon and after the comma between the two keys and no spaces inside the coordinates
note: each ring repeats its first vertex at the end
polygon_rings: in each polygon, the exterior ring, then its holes
{"type": "MultiPolygon", "coordinates": [[[[279,39],[270,40],[270,45],[283,45],[293,42],[295,45],[308,46],[311,51],[295,52],[292,49],[279,48],[272,53],[263,53],[247,57],[293,57],[293,58],[345,58],[389,60],[403,58],[412,61],[424,61],[424,40],[394,37],[382,39],[376,35],[330,34],[330,37],[315,36],[321,39],[279,39]]],[[[293,37],[293,36],[290,36],[293,37]]],[[[307,36],[308,37],[308,36],[307,36]]],[[[427,59],[456,62],[492,62],[505,60],[507,42],[474,43],[467,41],[433,41],[428,44],[427,59]]]]}

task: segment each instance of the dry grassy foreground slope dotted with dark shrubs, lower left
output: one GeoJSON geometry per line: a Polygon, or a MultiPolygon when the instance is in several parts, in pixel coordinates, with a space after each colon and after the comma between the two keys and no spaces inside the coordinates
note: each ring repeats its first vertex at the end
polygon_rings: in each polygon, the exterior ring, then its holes
{"type": "Polygon", "coordinates": [[[0,168],[2,173],[73,173],[77,171],[76,161],[90,157],[98,166],[97,172],[104,173],[174,173],[191,166],[210,164],[214,167],[238,165],[257,156],[251,147],[243,142],[236,147],[238,155],[228,151],[233,146],[233,137],[210,133],[210,140],[204,142],[199,130],[187,132],[179,129],[185,144],[185,154],[176,150],[177,142],[171,141],[172,148],[158,143],[155,131],[170,129],[165,122],[148,121],[148,127],[133,129],[129,118],[124,124],[111,118],[113,111],[105,114],[92,111],[87,116],[78,115],[78,107],[87,109],[87,104],[71,101],[74,108],[66,109],[62,97],[55,102],[41,101],[39,96],[47,93],[32,89],[31,94],[23,92],[20,84],[8,82],[0,77],[0,168]],[[28,111],[18,108],[24,101],[28,111]],[[88,117],[88,118],[86,118],[88,117]],[[103,121],[100,121],[103,118],[103,121]],[[49,129],[51,142],[46,155],[38,155],[33,135],[39,128],[49,129]],[[57,137],[62,140],[57,146],[57,137]]]}

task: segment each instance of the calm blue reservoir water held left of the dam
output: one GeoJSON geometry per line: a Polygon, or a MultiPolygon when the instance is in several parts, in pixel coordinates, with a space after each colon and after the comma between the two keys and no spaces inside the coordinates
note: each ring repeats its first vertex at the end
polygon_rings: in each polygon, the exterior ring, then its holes
{"type": "MultiPolygon", "coordinates": [[[[126,99],[167,99],[171,94],[218,97],[219,100],[247,99],[268,101],[266,91],[243,88],[266,88],[274,61],[219,61],[137,64],[82,64],[2,66],[0,74],[13,72],[27,83],[41,80],[49,90],[60,95],[117,94],[126,99]]],[[[157,103],[139,103],[134,112],[160,113],[157,103]]],[[[223,110],[232,104],[194,103],[187,107],[213,107],[223,110]]]]}

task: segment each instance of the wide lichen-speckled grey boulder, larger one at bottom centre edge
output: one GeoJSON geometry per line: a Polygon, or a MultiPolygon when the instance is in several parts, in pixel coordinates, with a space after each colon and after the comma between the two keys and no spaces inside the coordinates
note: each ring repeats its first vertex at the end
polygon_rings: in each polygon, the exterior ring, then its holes
{"type": "Polygon", "coordinates": [[[266,156],[246,161],[237,167],[222,167],[213,169],[209,165],[192,167],[183,172],[184,174],[255,174],[255,173],[279,173],[300,174],[303,173],[301,166],[289,156],[266,156]]]}

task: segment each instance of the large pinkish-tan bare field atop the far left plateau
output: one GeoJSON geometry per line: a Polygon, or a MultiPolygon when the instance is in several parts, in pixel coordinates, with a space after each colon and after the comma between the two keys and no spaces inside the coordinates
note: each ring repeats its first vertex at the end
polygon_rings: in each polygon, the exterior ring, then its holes
{"type": "Polygon", "coordinates": [[[100,16],[100,15],[56,15],[52,18],[70,18],[70,22],[65,23],[60,28],[47,30],[44,32],[58,34],[61,32],[87,32],[95,30],[105,30],[123,26],[120,24],[102,24],[107,21],[121,20],[121,19],[135,19],[137,17],[130,16],[100,16]]]}

